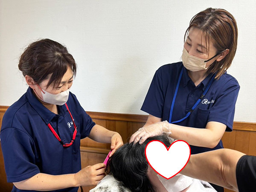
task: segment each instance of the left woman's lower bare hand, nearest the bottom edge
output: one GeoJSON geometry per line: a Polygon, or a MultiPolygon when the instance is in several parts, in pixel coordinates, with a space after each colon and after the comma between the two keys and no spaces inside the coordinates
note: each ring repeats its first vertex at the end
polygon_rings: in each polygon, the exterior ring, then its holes
{"type": "Polygon", "coordinates": [[[79,186],[93,186],[105,177],[105,164],[98,163],[87,166],[75,174],[75,182],[79,186]]]}

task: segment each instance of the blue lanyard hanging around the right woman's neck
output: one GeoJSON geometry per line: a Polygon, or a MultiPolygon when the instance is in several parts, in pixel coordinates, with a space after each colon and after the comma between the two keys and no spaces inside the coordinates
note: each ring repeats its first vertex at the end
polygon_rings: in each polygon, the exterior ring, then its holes
{"type": "Polygon", "coordinates": [[[176,85],[176,89],[175,89],[175,93],[174,93],[174,96],[173,96],[173,99],[172,99],[172,106],[171,106],[171,110],[170,110],[170,116],[169,116],[169,123],[177,123],[177,122],[181,122],[183,121],[184,119],[186,119],[191,113],[192,111],[194,111],[194,109],[198,106],[198,104],[201,102],[201,100],[204,98],[204,96],[206,95],[206,93],[208,92],[209,88],[211,87],[212,85],[212,82],[215,78],[215,75],[212,76],[212,79],[209,81],[206,89],[204,90],[204,92],[202,93],[202,95],[200,96],[200,98],[197,100],[197,102],[195,102],[195,105],[189,110],[189,112],[186,114],[186,116],[184,116],[182,119],[180,120],[177,120],[177,121],[173,121],[172,122],[172,111],[173,111],[173,108],[174,108],[174,103],[175,103],[175,99],[176,99],[176,96],[177,96],[177,92],[178,92],[178,89],[179,89],[179,86],[180,86],[180,80],[181,80],[181,77],[182,77],[182,74],[183,74],[183,69],[181,69],[180,71],[180,76],[179,76],[179,79],[178,79],[178,82],[177,82],[177,85],[176,85]]]}

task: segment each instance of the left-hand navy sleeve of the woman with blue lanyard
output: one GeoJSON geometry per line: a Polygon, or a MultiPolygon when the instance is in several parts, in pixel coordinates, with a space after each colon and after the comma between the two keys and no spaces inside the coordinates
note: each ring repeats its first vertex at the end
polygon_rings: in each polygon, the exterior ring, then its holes
{"type": "Polygon", "coordinates": [[[153,116],[162,118],[163,104],[163,81],[161,68],[159,68],[154,74],[153,80],[150,84],[148,93],[145,97],[141,110],[153,116]]]}

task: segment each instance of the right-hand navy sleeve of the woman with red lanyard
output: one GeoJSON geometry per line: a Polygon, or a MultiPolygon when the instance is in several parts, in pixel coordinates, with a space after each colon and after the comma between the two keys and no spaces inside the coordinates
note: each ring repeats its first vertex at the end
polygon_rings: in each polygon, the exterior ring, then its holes
{"type": "Polygon", "coordinates": [[[93,126],[96,125],[96,123],[93,122],[93,119],[84,111],[76,96],[74,94],[72,94],[72,96],[75,100],[77,109],[76,113],[79,113],[81,139],[84,139],[85,137],[89,136],[90,131],[92,130],[93,126]]]}

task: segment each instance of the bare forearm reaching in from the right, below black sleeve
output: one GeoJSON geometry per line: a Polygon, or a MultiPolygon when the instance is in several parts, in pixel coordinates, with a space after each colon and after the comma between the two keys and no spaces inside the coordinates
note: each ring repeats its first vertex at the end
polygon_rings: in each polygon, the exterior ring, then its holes
{"type": "Polygon", "coordinates": [[[236,165],[243,155],[227,148],[193,154],[180,173],[238,191],[236,165]]]}

